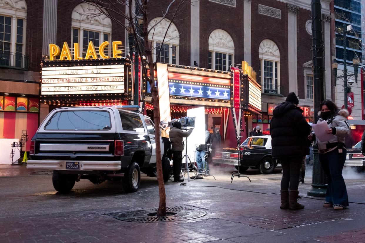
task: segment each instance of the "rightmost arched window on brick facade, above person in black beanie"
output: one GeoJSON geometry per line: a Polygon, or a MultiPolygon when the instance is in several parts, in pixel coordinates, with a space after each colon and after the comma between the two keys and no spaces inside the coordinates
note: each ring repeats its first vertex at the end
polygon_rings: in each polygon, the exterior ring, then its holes
{"type": "Polygon", "coordinates": [[[280,51],[275,42],[263,40],[258,47],[258,59],[262,93],[280,94],[280,51]]]}

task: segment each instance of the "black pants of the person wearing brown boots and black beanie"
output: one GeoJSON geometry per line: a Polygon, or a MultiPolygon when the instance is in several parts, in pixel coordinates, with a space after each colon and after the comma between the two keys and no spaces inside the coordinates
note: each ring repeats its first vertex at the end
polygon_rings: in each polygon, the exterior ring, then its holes
{"type": "Polygon", "coordinates": [[[281,190],[298,190],[299,172],[303,156],[281,158],[281,167],[283,168],[283,178],[281,178],[281,190]]]}

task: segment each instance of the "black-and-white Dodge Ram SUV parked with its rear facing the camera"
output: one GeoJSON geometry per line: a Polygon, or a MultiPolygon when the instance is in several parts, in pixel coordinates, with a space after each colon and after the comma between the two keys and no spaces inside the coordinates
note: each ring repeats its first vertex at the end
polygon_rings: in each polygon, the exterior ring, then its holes
{"type": "MultiPolygon", "coordinates": [[[[53,186],[58,192],[70,191],[80,179],[94,184],[121,180],[125,192],[135,192],[141,171],[155,175],[154,129],[151,119],[136,111],[115,107],[54,109],[31,139],[27,168],[53,170],[53,186]]],[[[167,181],[168,159],[162,167],[167,181]]]]}

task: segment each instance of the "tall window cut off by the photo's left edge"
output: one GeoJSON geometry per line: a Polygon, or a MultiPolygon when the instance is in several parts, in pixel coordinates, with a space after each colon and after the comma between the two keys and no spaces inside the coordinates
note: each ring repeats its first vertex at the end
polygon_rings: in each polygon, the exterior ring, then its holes
{"type": "Polygon", "coordinates": [[[0,5],[0,65],[26,68],[25,33],[27,4],[25,0],[2,1],[0,5]]]}

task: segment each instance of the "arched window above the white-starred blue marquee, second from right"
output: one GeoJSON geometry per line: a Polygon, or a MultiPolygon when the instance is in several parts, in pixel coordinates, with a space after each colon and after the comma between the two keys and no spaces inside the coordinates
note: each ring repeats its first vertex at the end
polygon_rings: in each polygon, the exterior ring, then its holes
{"type": "Polygon", "coordinates": [[[224,30],[214,30],[209,36],[208,68],[227,71],[234,63],[234,43],[224,30]]]}

